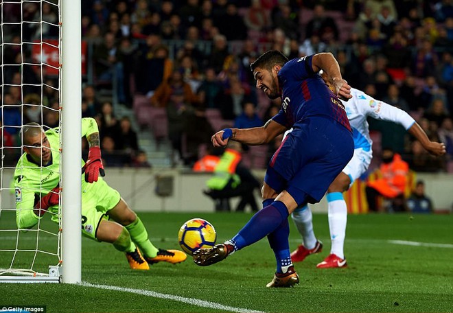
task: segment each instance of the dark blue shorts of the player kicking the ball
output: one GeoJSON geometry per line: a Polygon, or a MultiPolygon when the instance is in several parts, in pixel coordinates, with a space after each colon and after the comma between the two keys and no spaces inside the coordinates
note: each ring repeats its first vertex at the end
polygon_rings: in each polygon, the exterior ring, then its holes
{"type": "Polygon", "coordinates": [[[270,159],[264,181],[277,194],[286,190],[298,205],[316,203],[351,159],[352,135],[328,117],[309,117],[293,128],[270,159]]]}

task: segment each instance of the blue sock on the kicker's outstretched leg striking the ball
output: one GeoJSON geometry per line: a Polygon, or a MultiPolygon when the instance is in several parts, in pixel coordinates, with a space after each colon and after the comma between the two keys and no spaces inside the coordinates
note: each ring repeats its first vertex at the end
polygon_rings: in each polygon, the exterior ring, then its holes
{"type": "Polygon", "coordinates": [[[288,219],[288,209],[281,201],[274,201],[257,211],[248,223],[233,237],[234,250],[240,250],[262,239],[288,219]]]}

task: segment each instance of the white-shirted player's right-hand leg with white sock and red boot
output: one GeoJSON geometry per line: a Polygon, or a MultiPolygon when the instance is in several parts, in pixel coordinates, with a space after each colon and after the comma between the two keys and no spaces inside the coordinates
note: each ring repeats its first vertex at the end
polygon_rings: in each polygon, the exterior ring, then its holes
{"type": "Polygon", "coordinates": [[[343,192],[345,192],[352,179],[341,172],[327,190],[327,216],[329,218],[329,232],[332,246],[330,254],[319,263],[317,268],[339,268],[347,266],[345,259],[345,237],[347,225],[347,205],[343,192]]]}

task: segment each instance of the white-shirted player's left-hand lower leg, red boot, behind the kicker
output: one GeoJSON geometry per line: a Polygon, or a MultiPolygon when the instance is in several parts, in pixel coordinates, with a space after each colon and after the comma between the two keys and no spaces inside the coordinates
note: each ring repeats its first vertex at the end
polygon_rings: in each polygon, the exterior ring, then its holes
{"type": "Polygon", "coordinates": [[[299,244],[291,253],[292,262],[302,262],[308,255],[323,251],[323,243],[314,235],[313,214],[310,207],[308,205],[298,207],[292,212],[291,218],[303,239],[303,244],[299,244]]]}

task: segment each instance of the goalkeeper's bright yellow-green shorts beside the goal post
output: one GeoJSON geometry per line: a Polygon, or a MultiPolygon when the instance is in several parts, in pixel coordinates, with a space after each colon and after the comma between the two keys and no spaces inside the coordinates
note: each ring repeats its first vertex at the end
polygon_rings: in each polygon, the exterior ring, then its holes
{"type": "Polygon", "coordinates": [[[96,183],[82,183],[82,234],[96,240],[97,227],[106,212],[118,204],[121,196],[102,179],[96,183]]]}

